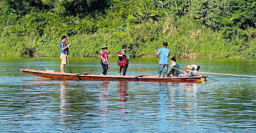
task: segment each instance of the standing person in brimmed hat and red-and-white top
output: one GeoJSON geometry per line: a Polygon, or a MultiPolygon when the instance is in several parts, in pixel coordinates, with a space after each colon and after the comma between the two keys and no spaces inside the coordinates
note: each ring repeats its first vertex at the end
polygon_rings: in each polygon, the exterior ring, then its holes
{"type": "Polygon", "coordinates": [[[106,75],[108,69],[110,68],[109,62],[108,62],[108,46],[107,44],[102,44],[101,52],[100,52],[100,64],[103,68],[103,72],[101,75],[106,75]]]}

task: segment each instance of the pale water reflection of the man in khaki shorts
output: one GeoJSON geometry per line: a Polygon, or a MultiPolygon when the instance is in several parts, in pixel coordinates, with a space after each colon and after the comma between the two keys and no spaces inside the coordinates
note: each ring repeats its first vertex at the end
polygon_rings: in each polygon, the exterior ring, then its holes
{"type": "Polygon", "coordinates": [[[60,113],[62,115],[62,117],[61,117],[62,122],[66,122],[66,120],[65,120],[66,114],[65,113],[66,113],[66,109],[67,109],[66,102],[67,102],[67,97],[68,97],[68,93],[66,91],[66,85],[67,85],[66,81],[60,81],[60,101],[61,101],[60,113]]]}

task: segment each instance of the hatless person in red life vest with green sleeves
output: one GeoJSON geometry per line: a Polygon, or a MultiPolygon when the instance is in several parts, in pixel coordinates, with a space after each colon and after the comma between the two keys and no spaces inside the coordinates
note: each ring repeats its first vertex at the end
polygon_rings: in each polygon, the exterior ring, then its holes
{"type": "Polygon", "coordinates": [[[127,67],[129,65],[130,56],[126,51],[126,47],[127,46],[125,44],[123,44],[122,45],[122,50],[119,51],[118,55],[117,55],[117,57],[118,57],[118,68],[119,68],[118,76],[121,75],[122,68],[123,68],[123,75],[125,75],[127,67]]]}

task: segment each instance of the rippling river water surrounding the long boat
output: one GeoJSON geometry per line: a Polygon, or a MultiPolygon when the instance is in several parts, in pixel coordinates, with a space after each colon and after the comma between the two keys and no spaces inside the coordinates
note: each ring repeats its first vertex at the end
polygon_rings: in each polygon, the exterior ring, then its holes
{"type": "MultiPolygon", "coordinates": [[[[157,58],[132,58],[156,75],[157,58]]],[[[69,58],[73,73],[99,58],[69,58]]],[[[117,75],[110,58],[107,74],[117,75]]],[[[177,59],[201,71],[256,76],[255,59],[177,59]]],[[[208,75],[200,83],[46,80],[19,69],[60,70],[59,57],[0,57],[0,132],[256,132],[256,79],[208,75]]],[[[69,72],[68,67],[65,68],[69,72]]],[[[126,75],[144,73],[130,63],[126,75]]]]}

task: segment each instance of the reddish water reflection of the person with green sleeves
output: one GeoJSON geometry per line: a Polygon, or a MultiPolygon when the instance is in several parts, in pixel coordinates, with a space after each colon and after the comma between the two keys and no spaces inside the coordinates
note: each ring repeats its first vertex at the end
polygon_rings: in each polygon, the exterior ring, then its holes
{"type": "MultiPolygon", "coordinates": [[[[119,93],[119,99],[118,101],[121,102],[125,102],[126,101],[126,97],[127,97],[127,81],[119,81],[117,88],[118,88],[118,93],[119,93]]],[[[119,109],[124,109],[125,105],[123,104],[122,107],[118,107],[119,109]]]]}

